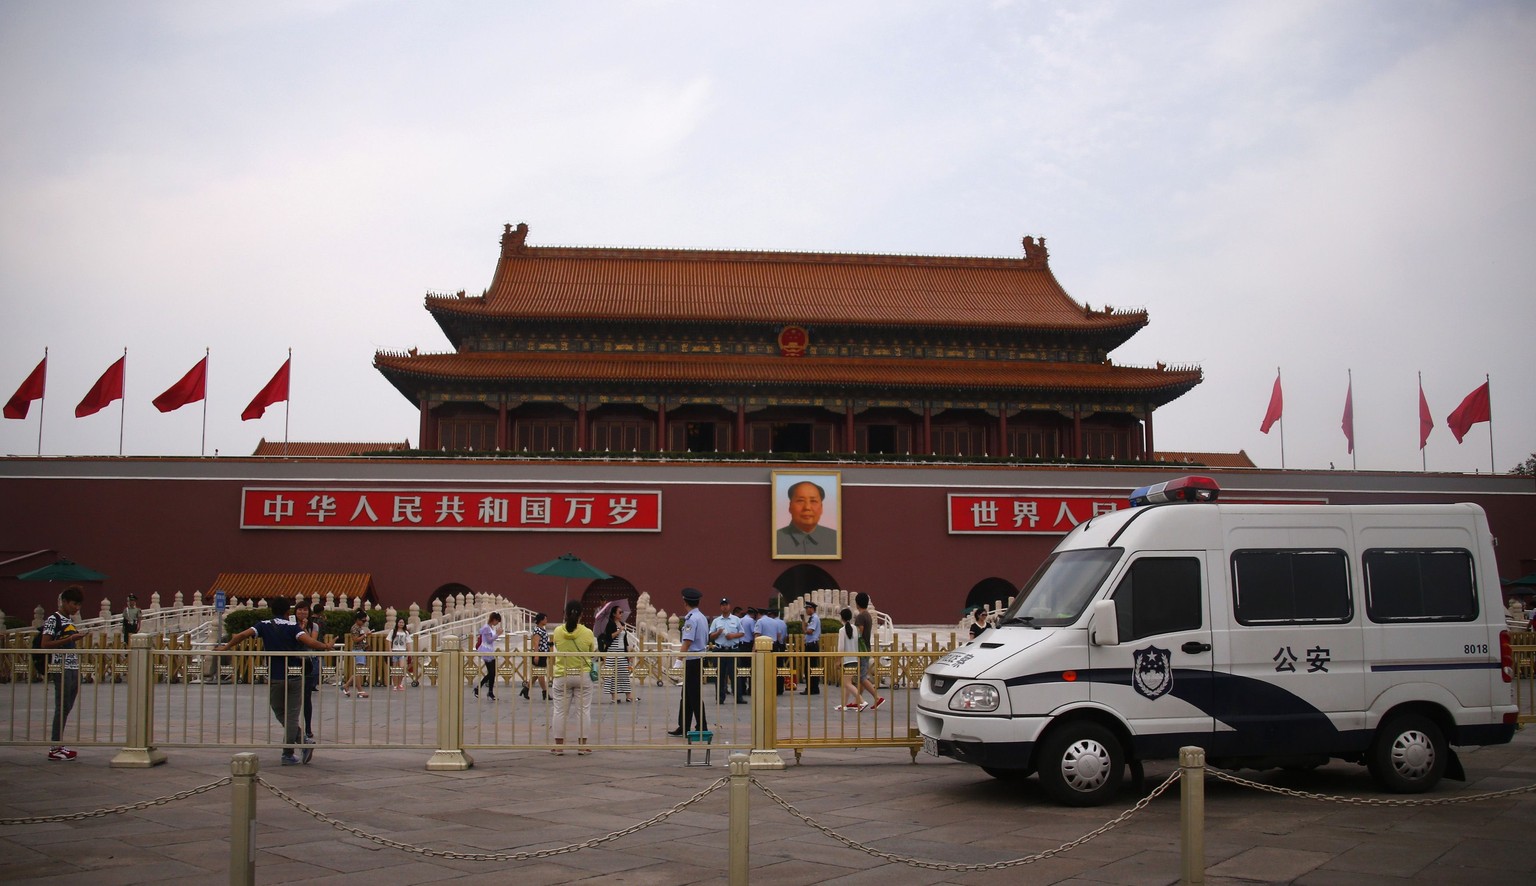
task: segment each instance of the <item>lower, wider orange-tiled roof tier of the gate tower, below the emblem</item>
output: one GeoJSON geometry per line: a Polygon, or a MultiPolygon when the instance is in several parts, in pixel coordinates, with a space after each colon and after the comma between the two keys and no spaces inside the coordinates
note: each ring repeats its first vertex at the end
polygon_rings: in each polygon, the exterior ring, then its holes
{"type": "MultiPolygon", "coordinates": [[[[633,382],[656,385],[871,385],[983,390],[1170,392],[1200,384],[1200,369],[1146,369],[1084,362],[782,358],[725,355],[614,355],[379,352],[373,365],[402,390],[407,379],[465,382],[633,382]]],[[[410,395],[407,395],[410,396],[410,395]]],[[[1177,396],[1177,395],[1175,395],[1177,396]]]]}

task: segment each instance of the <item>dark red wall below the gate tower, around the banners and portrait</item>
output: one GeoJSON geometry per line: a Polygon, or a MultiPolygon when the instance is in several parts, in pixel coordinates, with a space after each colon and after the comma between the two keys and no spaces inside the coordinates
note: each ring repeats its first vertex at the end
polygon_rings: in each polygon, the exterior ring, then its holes
{"type": "MultiPolygon", "coordinates": [[[[0,550],[51,548],[111,576],[88,587],[114,611],[129,593],[210,590],[223,571],[370,573],[384,605],[427,603],[447,584],[505,594],[554,611],[562,580],[525,567],[571,551],[628,579],[676,611],[677,591],[766,602],[774,580],[811,562],[843,588],[868,591],[900,623],[957,622],[969,590],[989,577],[1029,577],[1060,536],[951,536],[949,493],[1124,494],[1181,471],[1144,468],[839,467],[840,560],[774,560],[770,479],[796,465],[579,465],[287,459],[0,459],[0,550]],[[275,531],[241,530],[243,487],[662,490],[660,533],[571,531],[275,531]]],[[[805,467],[805,465],[799,465],[805,467]]],[[[1536,556],[1536,490],[1530,479],[1346,471],[1203,471],[1229,491],[1333,504],[1475,501],[1499,536],[1501,574],[1518,577],[1536,556]]],[[[0,568],[0,573],[11,574],[0,568]]],[[[579,594],[585,582],[571,580],[579,594]]],[[[58,585],[0,579],[0,610],[28,616],[58,585]]]]}

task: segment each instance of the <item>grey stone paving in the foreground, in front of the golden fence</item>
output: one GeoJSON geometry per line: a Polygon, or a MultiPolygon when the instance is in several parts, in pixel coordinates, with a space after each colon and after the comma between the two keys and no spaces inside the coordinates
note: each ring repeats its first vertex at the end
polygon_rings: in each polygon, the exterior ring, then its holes
{"type": "MultiPolygon", "coordinates": [[[[172,749],[151,771],[111,769],[109,749],[49,763],[41,748],[0,748],[0,817],[80,812],[184,791],[229,774],[237,749],[172,749]]],[[[581,843],[644,822],[727,774],[685,768],[684,751],[481,751],[465,772],[427,772],[421,751],[332,751],[310,766],[263,777],[315,809],[392,840],[470,852],[519,852],[581,843]]],[[[1031,779],[1003,783],[975,768],[905,751],[813,751],[759,779],[822,825],[880,851],[951,863],[994,863],[1094,831],[1115,806],[1063,809],[1031,779]]],[[[1514,743],[1462,752],[1470,782],[1432,797],[1536,785],[1536,729],[1514,743]]],[[[1147,768],[1147,786],[1172,771],[1147,768]]],[[[1253,775],[1246,772],[1244,775],[1253,775]]],[[[1382,797],[1364,771],[1266,772],[1273,785],[1382,797]]],[[[0,881],[227,881],[229,788],[144,811],[72,823],[0,826],[0,881]]],[[[604,846],[533,861],[433,860],[335,831],[263,791],[260,883],[723,883],[727,791],[604,846]]],[[[753,881],[796,883],[1175,883],[1177,791],[1072,852],[1005,871],[945,872],[889,863],[845,848],[753,791],[753,881]]],[[[1458,806],[1367,808],[1207,783],[1209,883],[1530,883],[1536,792],[1458,806]]]]}

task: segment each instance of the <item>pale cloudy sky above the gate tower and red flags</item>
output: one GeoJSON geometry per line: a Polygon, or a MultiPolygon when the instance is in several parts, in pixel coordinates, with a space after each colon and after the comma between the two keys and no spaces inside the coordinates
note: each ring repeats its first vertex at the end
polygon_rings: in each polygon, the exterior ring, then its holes
{"type": "Polygon", "coordinates": [[[373,353],[449,350],[422,296],[484,290],[527,223],[531,246],[1046,236],[1077,301],[1149,312],[1117,364],[1204,370],[1160,450],[1508,471],[1536,451],[1531,46],[1536,5],[1496,0],[0,0],[0,399],[49,349],[0,453],[415,444],[373,353]],[[124,349],[123,404],[75,418],[124,349]],[[204,349],[206,442],[203,404],[151,405],[204,349]],[[241,421],[289,349],[290,402],[241,421]],[[1485,376],[1493,422],[1458,444],[1485,376]]]}

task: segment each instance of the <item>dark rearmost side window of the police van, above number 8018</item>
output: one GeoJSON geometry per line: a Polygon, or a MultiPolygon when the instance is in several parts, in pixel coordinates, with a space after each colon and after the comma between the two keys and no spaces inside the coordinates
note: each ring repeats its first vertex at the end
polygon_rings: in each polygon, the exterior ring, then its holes
{"type": "Polygon", "coordinates": [[[1478,582],[1465,550],[1366,551],[1366,611],[1373,622],[1471,622],[1478,582]]]}

